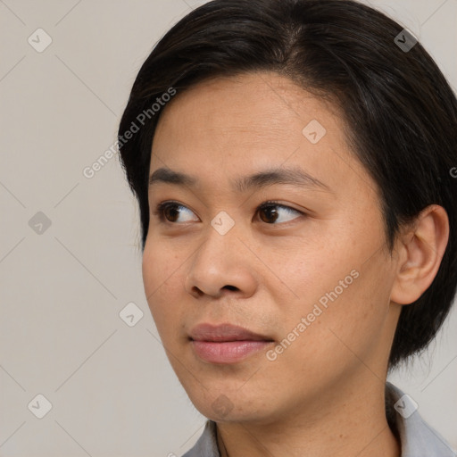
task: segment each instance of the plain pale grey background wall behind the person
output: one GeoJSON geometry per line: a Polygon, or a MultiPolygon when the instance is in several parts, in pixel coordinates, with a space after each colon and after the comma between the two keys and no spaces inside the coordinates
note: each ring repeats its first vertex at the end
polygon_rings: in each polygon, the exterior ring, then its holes
{"type": "MultiPolygon", "coordinates": [[[[203,3],[0,0],[0,456],[181,455],[202,433],[145,302],[118,157],[83,170],[112,146],[154,43],[203,3]]],[[[457,0],[366,3],[457,86],[457,0]]],[[[454,310],[428,354],[391,377],[454,448],[456,330],[454,310]]]]}

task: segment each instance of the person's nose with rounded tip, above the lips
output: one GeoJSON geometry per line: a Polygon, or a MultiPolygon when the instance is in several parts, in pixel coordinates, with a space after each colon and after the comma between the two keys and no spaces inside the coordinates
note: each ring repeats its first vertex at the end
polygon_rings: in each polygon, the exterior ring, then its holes
{"type": "Polygon", "coordinates": [[[188,263],[185,289],[195,298],[249,297],[257,286],[253,263],[253,254],[240,241],[235,227],[225,235],[208,227],[203,244],[188,263]]]}

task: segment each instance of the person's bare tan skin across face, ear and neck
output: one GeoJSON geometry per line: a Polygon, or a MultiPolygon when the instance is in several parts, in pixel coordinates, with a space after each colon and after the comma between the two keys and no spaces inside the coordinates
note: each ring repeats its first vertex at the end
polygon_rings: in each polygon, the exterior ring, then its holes
{"type": "Polygon", "coordinates": [[[217,422],[221,455],[399,456],[384,408],[388,354],[402,306],[436,275],[445,210],[428,207],[388,253],[378,190],[346,143],[342,114],[272,73],[212,79],[176,96],[157,126],[150,174],[162,167],[198,184],[150,187],[145,295],[179,381],[217,422]],[[302,133],[311,120],[327,130],[316,144],[302,133]],[[331,190],[230,185],[291,166],[331,190]],[[161,221],[155,208],[170,200],[184,207],[161,221]],[[268,200],[298,212],[276,206],[274,221],[257,211],[268,200]],[[235,221],[225,235],[211,225],[221,211],[235,221]],[[352,284],[270,361],[267,350],[353,270],[352,284]],[[203,322],[274,342],[244,361],[210,363],[188,337],[203,322]]]}

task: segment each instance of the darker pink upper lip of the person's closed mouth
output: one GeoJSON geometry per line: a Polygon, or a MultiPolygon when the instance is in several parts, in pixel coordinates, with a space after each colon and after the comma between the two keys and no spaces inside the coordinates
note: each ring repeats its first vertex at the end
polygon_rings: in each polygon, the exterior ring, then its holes
{"type": "Polygon", "coordinates": [[[199,324],[192,328],[189,337],[195,341],[273,341],[270,337],[254,333],[231,324],[199,324]]]}

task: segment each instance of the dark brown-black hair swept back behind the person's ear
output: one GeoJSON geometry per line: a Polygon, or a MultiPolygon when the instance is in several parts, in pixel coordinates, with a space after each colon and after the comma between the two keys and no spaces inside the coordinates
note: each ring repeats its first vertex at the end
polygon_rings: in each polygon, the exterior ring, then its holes
{"type": "Polygon", "coordinates": [[[353,0],[213,0],[174,25],[138,72],[120,120],[120,160],[139,204],[142,249],[163,101],[205,79],[260,71],[286,76],[341,108],[348,144],[378,187],[390,253],[399,228],[429,204],[448,214],[436,278],[403,306],[392,369],[427,347],[455,295],[457,101],[432,57],[382,12],[353,0]]]}

